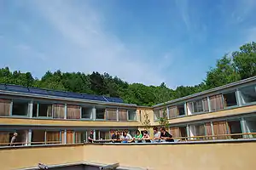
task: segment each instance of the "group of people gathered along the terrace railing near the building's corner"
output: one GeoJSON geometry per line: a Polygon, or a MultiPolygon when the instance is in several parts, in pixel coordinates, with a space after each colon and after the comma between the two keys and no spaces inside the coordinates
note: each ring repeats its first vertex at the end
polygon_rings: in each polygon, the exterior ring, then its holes
{"type": "MultiPolygon", "coordinates": [[[[159,143],[159,142],[174,142],[172,134],[166,131],[165,127],[161,127],[160,131],[158,127],[153,127],[154,136],[150,137],[148,131],[139,130],[136,131],[134,137],[131,136],[127,131],[119,132],[115,131],[111,137],[111,142],[113,143],[159,143]]],[[[88,137],[90,143],[93,142],[93,132],[90,133],[88,137]]]]}

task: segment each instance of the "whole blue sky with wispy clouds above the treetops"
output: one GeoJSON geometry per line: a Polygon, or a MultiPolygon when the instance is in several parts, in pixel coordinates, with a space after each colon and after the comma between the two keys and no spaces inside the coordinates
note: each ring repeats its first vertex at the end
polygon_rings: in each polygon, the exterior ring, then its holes
{"type": "Polygon", "coordinates": [[[255,0],[0,0],[0,67],[195,85],[256,41],[255,0]]]}

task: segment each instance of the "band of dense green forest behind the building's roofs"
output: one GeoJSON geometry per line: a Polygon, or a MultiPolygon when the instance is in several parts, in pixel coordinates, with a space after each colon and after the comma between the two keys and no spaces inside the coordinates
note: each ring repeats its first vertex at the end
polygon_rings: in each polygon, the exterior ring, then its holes
{"type": "Polygon", "coordinates": [[[125,103],[137,105],[155,105],[253,76],[256,76],[256,42],[244,44],[231,54],[224,54],[207,71],[207,77],[201,83],[176,89],[167,88],[164,82],[160,86],[128,83],[108,73],[47,71],[38,79],[30,72],[9,71],[8,67],[0,69],[0,83],[119,97],[125,103]]]}

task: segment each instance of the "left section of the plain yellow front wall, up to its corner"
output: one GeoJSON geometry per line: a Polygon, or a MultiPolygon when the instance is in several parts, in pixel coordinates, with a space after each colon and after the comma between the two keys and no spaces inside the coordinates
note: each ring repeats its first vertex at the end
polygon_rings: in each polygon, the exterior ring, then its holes
{"type": "Polygon", "coordinates": [[[83,145],[0,149],[1,170],[83,161],[83,145]]]}

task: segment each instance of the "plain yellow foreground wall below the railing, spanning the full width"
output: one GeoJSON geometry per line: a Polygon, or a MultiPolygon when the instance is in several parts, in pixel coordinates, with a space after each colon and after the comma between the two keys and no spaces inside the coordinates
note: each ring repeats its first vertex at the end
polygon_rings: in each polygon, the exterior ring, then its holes
{"type": "Polygon", "coordinates": [[[1,170],[90,161],[154,170],[254,170],[256,142],[215,144],[85,144],[1,149],[1,170]]]}

